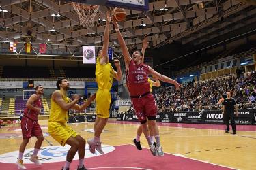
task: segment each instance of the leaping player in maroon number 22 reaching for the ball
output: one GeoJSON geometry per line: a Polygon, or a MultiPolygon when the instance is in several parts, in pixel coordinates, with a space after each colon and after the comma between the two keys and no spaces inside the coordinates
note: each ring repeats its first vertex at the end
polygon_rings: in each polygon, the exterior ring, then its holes
{"type": "Polygon", "coordinates": [[[150,82],[147,81],[148,75],[151,74],[163,82],[174,84],[176,88],[180,88],[181,85],[177,83],[176,80],[161,75],[154,71],[150,66],[143,64],[143,55],[140,51],[133,52],[132,57],[130,57],[126,43],[119,31],[119,25],[116,20],[113,20],[113,22],[115,24],[115,31],[117,32],[117,39],[124,55],[124,62],[126,63],[126,82],[130,92],[132,105],[142,124],[143,133],[150,146],[150,151],[154,156],[163,156],[164,152],[162,152],[158,125],[156,124],[156,101],[150,92],[150,82]],[[154,146],[154,141],[147,131],[147,124],[149,126],[150,134],[154,135],[156,139],[156,146],[154,146]]]}

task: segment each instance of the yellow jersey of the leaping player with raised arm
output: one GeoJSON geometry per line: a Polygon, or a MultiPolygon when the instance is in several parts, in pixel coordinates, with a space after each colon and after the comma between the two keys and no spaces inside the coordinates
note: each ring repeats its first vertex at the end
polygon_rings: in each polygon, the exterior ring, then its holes
{"type": "Polygon", "coordinates": [[[97,58],[95,75],[99,90],[111,89],[113,84],[113,70],[111,63],[108,62],[105,65],[101,65],[100,58],[97,58]]]}

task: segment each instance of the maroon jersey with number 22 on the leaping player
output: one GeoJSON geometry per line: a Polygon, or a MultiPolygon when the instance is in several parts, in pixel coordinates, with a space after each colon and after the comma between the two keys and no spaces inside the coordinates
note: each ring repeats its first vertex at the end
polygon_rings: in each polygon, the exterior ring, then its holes
{"type": "Polygon", "coordinates": [[[150,92],[150,82],[148,82],[148,73],[150,69],[148,65],[136,65],[133,60],[126,72],[126,83],[130,96],[140,96],[150,92]]]}

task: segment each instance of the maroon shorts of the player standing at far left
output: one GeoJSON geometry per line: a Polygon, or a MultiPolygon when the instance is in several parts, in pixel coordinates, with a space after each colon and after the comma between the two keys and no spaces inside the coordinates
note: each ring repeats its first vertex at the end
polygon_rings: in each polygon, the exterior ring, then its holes
{"type": "Polygon", "coordinates": [[[30,139],[32,136],[37,137],[42,135],[42,129],[38,124],[38,120],[31,120],[23,116],[20,126],[23,131],[23,139],[30,139]]]}

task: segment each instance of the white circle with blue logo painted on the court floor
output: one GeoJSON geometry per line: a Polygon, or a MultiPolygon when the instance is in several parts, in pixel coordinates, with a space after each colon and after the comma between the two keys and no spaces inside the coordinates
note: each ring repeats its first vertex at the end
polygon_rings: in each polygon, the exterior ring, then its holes
{"type": "MultiPolygon", "coordinates": [[[[66,161],[66,156],[68,153],[68,150],[70,149],[70,146],[66,145],[64,147],[62,146],[47,146],[47,147],[42,147],[40,148],[40,151],[38,152],[38,158],[40,162],[42,163],[55,163],[55,162],[63,162],[66,161]]],[[[31,154],[33,154],[33,148],[26,149],[23,155],[23,163],[25,164],[31,164],[32,162],[29,160],[31,154]]],[[[96,154],[91,154],[89,152],[89,148],[86,145],[85,147],[86,154],[85,158],[91,158],[94,156],[100,156],[96,151],[96,154]]],[[[102,145],[102,150],[105,152],[105,154],[109,152],[113,152],[115,148],[113,146],[109,145],[102,145]]],[[[0,155],[0,162],[1,163],[16,163],[18,158],[18,150],[14,152],[9,152],[5,154],[0,155]]],[[[78,160],[79,155],[76,152],[76,155],[74,156],[74,160],[78,160]]]]}

